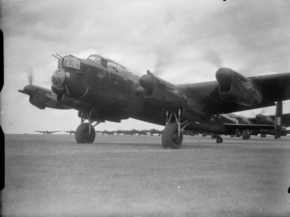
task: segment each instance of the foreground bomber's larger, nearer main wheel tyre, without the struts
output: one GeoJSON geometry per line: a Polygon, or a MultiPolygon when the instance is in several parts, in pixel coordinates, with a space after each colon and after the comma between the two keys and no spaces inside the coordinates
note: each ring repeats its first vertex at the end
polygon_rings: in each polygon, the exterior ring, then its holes
{"type": "Polygon", "coordinates": [[[162,133],[161,141],[164,148],[180,148],[183,140],[183,134],[180,132],[180,136],[178,136],[178,127],[177,124],[171,123],[168,124],[162,133]]]}

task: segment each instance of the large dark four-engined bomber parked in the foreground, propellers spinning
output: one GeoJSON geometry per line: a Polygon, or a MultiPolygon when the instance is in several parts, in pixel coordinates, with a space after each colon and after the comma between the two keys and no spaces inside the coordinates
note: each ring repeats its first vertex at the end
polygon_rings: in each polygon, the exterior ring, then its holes
{"type": "MultiPolygon", "coordinates": [[[[140,76],[98,54],[87,59],[54,55],[58,68],[51,90],[30,84],[21,93],[39,109],[76,109],[80,125],[77,143],[93,143],[95,127],[124,119],[164,126],[163,147],[179,148],[183,132],[232,135],[241,131],[249,139],[254,130],[271,130],[275,139],[283,132],[283,101],[290,99],[290,73],[245,77],[229,68],[215,72],[215,81],[173,84],[149,70],[140,76]],[[273,124],[243,124],[229,113],[276,106],[273,124]]],[[[285,125],[286,126],[286,125],[285,125]]]]}

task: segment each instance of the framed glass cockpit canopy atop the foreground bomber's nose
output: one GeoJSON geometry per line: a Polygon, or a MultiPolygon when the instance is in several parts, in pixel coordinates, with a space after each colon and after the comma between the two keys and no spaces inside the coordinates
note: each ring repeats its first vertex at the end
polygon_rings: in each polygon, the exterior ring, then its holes
{"type": "Polygon", "coordinates": [[[122,66],[121,64],[115,62],[114,60],[109,59],[107,57],[100,56],[98,54],[92,54],[87,59],[97,62],[98,65],[100,65],[106,69],[111,69],[111,70],[115,70],[118,72],[130,72],[130,73],[132,73],[129,69],[127,69],[126,67],[122,66]]]}

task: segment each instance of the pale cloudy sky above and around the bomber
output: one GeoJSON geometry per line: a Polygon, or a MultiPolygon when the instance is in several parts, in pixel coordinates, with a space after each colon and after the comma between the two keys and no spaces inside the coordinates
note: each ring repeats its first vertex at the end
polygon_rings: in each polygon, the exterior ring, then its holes
{"type": "MultiPolygon", "coordinates": [[[[51,87],[52,54],[100,54],[137,75],[149,69],[174,84],[215,80],[221,67],[245,76],[290,72],[290,0],[1,0],[5,133],[75,130],[76,110],[40,110],[18,92],[51,87]]],[[[290,101],[284,102],[290,112],[290,101]]],[[[274,114],[275,107],[243,111],[274,114]]],[[[163,129],[124,120],[96,130],[163,129]]]]}

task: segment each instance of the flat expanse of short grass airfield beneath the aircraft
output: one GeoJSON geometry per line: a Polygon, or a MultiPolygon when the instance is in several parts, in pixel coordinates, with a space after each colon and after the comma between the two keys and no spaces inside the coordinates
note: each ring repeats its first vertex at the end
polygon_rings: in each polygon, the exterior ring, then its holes
{"type": "Polygon", "coordinates": [[[5,135],[1,216],[290,216],[290,136],[5,135]]]}

